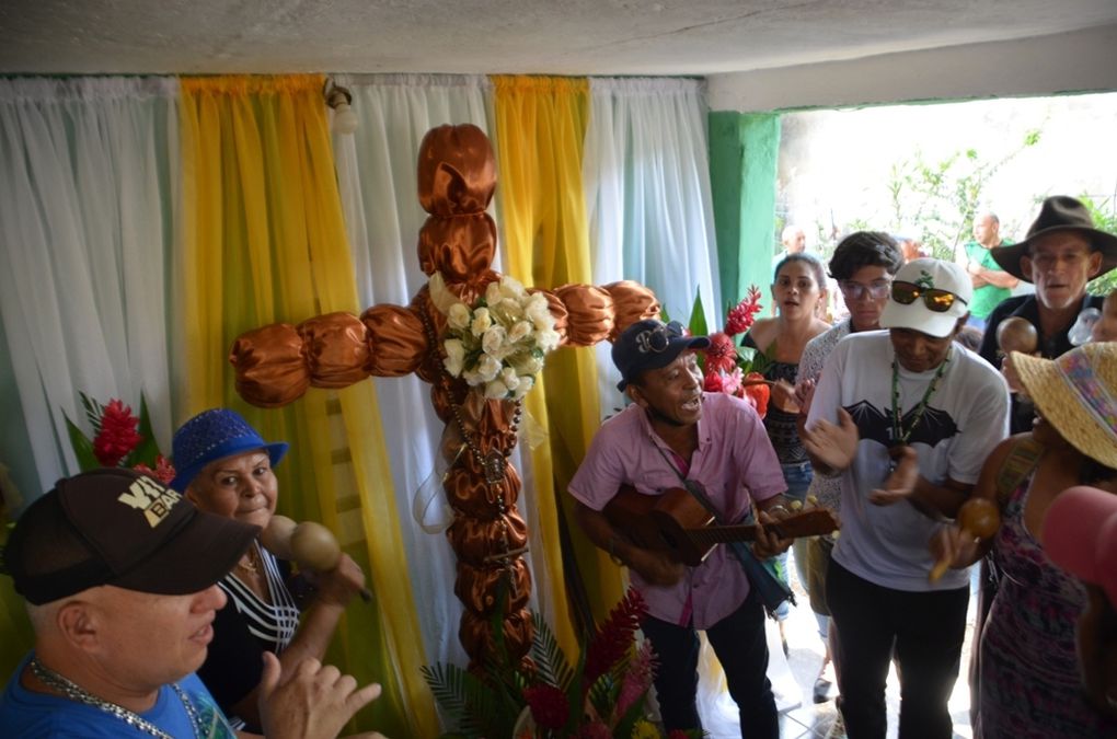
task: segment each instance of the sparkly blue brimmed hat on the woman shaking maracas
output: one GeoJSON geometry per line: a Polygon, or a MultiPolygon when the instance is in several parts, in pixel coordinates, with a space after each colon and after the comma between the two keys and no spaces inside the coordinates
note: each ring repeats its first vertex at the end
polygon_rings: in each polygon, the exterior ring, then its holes
{"type": "Polygon", "coordinates": [[[267,451],[271,467],[275,467],[287,453],[287,448],[285,441],[271,444],[264,441],[236,411],[223,407],[202,411],[174,432],[172,452],[178,473],[171,487],[182,492],[210,462],[254,449],[267,451]]]}

